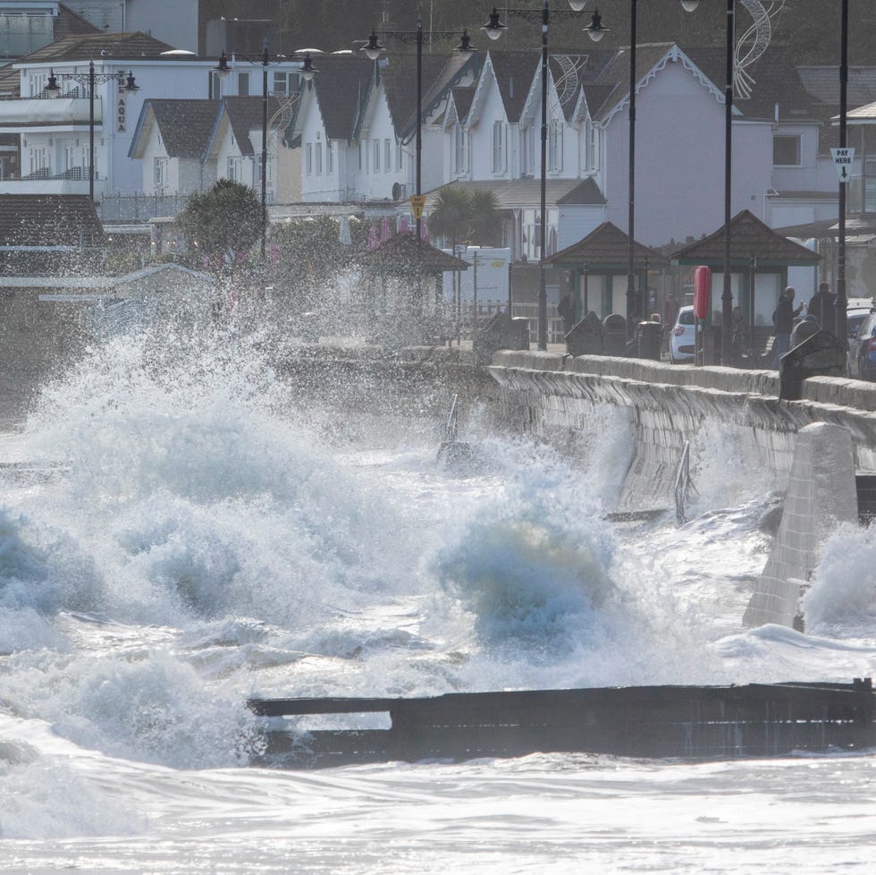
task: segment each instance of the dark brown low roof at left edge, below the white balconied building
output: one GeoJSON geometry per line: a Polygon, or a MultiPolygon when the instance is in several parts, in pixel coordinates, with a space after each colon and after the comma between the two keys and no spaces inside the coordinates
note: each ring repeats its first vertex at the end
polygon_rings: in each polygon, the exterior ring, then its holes
{"type": "Polygon", "coordinates": [[[4,246],[99,246],[104,228],[87,195],[0,194],[4,246]]]}

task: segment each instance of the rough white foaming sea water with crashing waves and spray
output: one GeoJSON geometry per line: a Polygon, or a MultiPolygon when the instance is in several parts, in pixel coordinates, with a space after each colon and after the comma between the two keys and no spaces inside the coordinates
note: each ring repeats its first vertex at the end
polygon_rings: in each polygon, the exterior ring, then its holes
{"type": "Polygon", "coordinates": [[[0,872],[872,868],[867,752],[248,766],[250,696],[876,668],[864,529],[826,545],[808,633],[741,627],[780,484],[719,429],[691,522],[613,523],[622,412],[575,458],[474,417],[463,476],[440,423],[303,406],[256,348],[115,341],[0,440],[33,469],[0,474],[0,872]]]}

